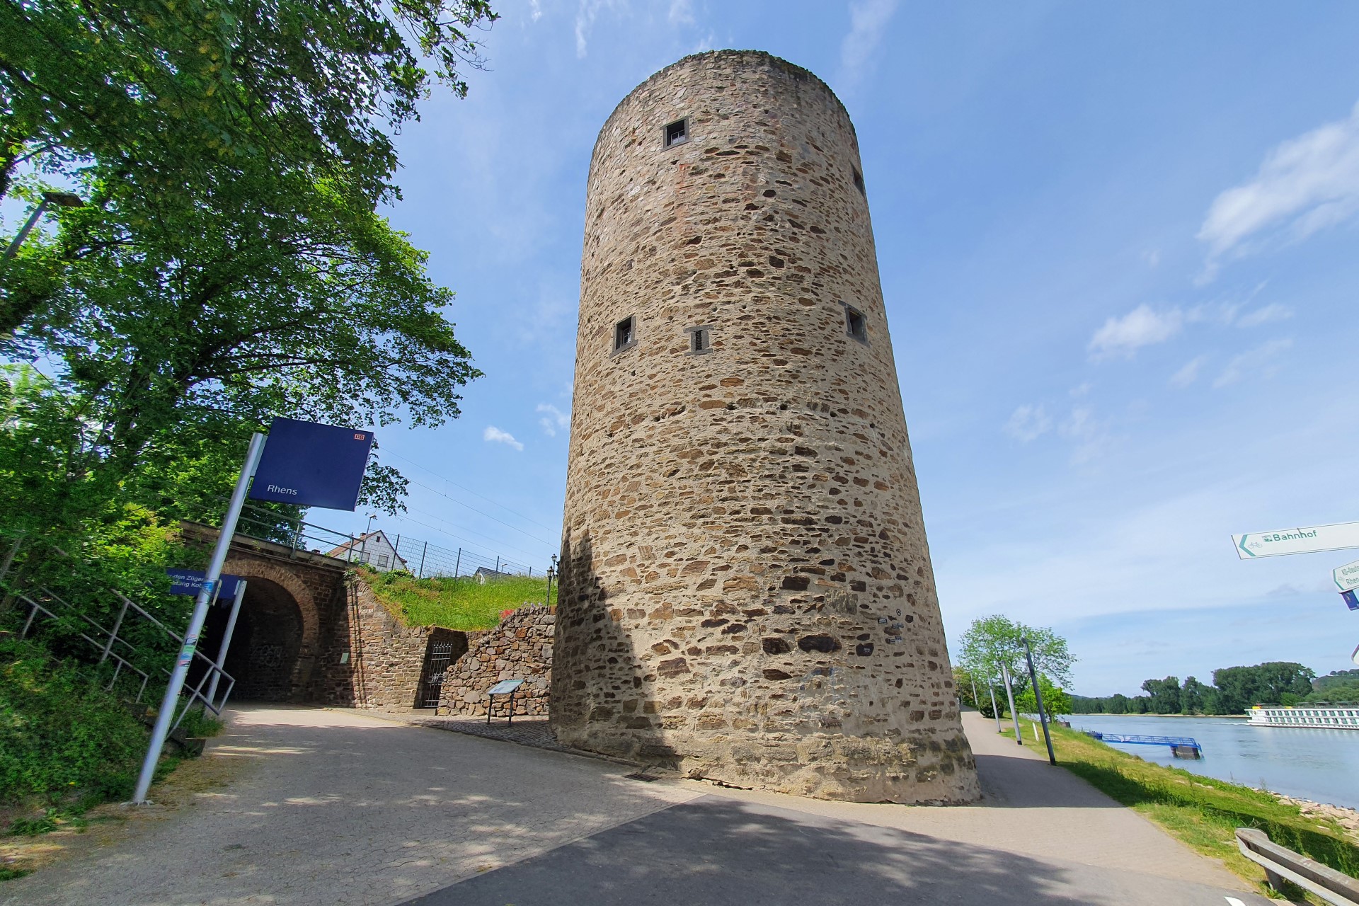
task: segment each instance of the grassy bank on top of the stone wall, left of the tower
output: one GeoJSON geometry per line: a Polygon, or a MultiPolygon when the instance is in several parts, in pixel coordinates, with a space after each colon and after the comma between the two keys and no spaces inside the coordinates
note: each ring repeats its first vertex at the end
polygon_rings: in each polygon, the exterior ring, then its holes
{"type": "MultiPolygon", "coordinates": [[[[458,579],[416,579],[410,573],[360,568],[372,594],[408,626],[446,629],[491,629],[501,613],[525,604],[541,604],[548,594],[546,577],[507,576],[485,584],[472,576],[458,579]]],[[[552,602],[557,603],[557,585],[552,602]]]]}

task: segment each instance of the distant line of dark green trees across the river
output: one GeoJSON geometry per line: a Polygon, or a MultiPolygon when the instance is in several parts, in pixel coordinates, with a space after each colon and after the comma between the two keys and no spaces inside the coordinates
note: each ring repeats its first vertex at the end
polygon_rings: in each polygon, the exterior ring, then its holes
{"type": "Polygon", "coordinates": [[[1252,705],[1359,704],[1359,670],[1317,675],[1292,662],[1212,671],[1212,685],[1195,676],[1148,679],[1146,695],[1071,695],[1074,714],[1239,714],[1252,705]]]}

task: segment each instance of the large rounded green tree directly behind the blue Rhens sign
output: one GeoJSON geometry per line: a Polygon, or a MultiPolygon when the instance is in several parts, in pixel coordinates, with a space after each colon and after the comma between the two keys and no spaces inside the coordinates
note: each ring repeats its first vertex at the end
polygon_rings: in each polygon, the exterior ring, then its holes
{"type": "MultiPolygon", "coordinates": [[[[82,249],[79,266],[11,348],[63,365],[63,390],[96,428],[83,452],[106,486],[275,414],[353,427],[458,416],[458,388],[480,372],[442,316],[451,293],[429,281],[425,253],[325,183],[269,185],[268,204],[258,186],[230,182],[141,224],[126,187],[95,179],[103,202],[50,240],[82,249]]],[[[136,484],[167,501],[159,471],[136,484]]],[[[366,499],[393,511],[402,492],[375,460],[366,499]]]]}

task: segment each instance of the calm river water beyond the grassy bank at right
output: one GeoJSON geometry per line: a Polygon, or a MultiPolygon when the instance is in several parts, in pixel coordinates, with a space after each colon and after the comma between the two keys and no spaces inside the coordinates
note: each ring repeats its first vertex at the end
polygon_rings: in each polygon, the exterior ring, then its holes
{"type": "MultiPolygon", "coordinates": [[[[1176,758],[1169,746],[1113,743],[1143,761],[1332,805],[1359,808],[1359,729],[1249,727],[1234,717],[1071,714],[1076,729],[1193,736],[1203,758],[1176,758]]],[[[1025,738],[1031,728],[1021,717],[1025,738]]]]}

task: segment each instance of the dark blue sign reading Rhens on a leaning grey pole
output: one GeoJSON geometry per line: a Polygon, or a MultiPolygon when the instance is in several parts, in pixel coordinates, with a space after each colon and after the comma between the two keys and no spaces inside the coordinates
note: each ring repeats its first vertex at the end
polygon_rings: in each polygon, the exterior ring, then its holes
{"type": "Polygon", "coordinates": [[[371,431],[275,418],[250,499],[353,512],[371,450],[371,431]]]}

